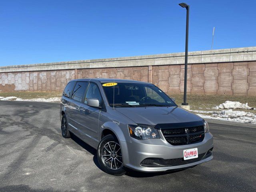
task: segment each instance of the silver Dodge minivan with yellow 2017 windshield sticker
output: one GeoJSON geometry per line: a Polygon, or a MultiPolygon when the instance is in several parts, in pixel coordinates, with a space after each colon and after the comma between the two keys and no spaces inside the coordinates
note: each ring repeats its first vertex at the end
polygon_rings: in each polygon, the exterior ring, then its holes
{"type": "Polygon", "coordinates": [[[60,119],[62,136],[72,133],[94,147],[108,174],[184,169],[213,158],[208,123],[151,83],[72,80],[61,98],[60,119]]]}

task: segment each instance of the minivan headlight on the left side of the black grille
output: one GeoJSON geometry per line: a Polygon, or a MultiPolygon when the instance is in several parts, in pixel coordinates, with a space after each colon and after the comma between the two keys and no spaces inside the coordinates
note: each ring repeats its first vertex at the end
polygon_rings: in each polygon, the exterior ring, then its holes
{"type": "Polygon", "coordinates": [[[158,131],[152,126],[128,125],[130,136],[138,139],[159,139],[158,131]]]}

